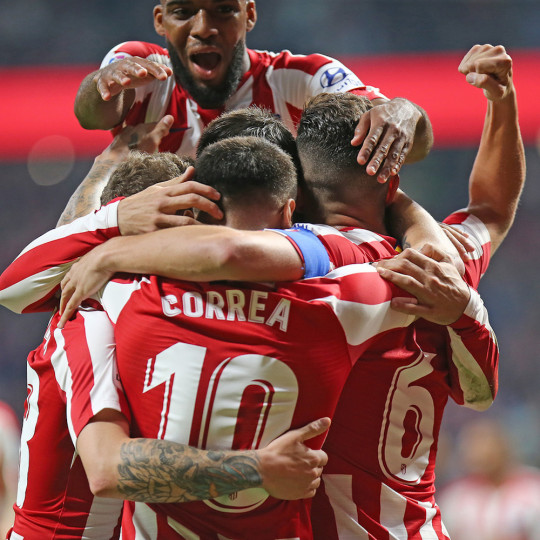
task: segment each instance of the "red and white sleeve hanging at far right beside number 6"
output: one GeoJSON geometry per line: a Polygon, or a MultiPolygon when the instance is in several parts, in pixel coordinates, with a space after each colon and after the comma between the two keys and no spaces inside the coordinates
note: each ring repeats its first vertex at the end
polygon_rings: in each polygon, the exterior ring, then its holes
{"type": "Polygon", "coordinates": [[[463,315],[447,327],[450,337],[450,395],[459,405],[484,410],[498,389],[499,348],[480,295],[471,289],[463,315]]]}

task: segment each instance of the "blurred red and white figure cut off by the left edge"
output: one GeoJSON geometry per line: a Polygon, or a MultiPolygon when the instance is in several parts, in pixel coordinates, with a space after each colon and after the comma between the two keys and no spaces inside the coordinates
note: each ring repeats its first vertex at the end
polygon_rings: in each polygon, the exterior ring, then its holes
{"type": "Polygon", "coordinates": [[[0,538],[13,525],[21,428],[13,410],[0,401],[0,538]]]}

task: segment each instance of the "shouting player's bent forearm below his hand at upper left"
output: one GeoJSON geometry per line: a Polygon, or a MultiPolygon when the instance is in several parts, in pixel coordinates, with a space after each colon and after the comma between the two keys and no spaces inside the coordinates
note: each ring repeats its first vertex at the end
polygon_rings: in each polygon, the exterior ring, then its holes
{"type": "Polygon", "coordinates": [[[109,101],[104,101],[97,90],[95,76],[87,75],[75,97],[75,116],[85,129],[112,129],[122,122],[135,98],[133,90],[124,90],[109,101]]]}

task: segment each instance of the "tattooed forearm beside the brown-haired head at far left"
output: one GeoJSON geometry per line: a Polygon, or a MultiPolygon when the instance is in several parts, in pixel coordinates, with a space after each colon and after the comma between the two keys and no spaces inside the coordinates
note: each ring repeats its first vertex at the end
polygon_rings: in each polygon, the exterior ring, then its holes
{"type": "Polygon", "coordinates": [[[96,160],[94,162],[85,179],[69,199],[56,224],[57,227],[71,223],[73,220],[86,216],[100,207],[99,198],[101,192],[118,164],[118,160],[113,159],[96,160]]]}

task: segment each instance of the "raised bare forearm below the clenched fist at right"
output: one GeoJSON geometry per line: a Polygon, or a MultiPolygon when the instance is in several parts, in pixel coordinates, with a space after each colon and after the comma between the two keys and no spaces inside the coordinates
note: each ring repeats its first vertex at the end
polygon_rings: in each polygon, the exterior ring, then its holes
{"type": "Polygon", "coordinates": [[[468,210],[491,233],[495,251],[514,220],[525,182],[525,152],[515,91],[488,101],[480,148],[469,179],[468,210]]]}

